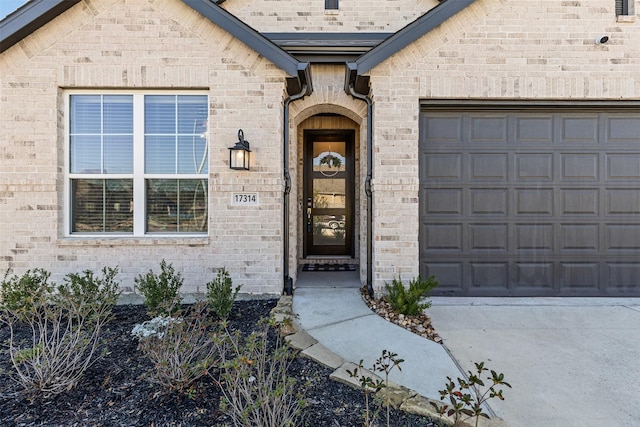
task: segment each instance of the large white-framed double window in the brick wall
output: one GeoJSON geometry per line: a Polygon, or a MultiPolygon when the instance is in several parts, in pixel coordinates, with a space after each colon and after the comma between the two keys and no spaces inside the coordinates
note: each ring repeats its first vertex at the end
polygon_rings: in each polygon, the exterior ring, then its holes
{"type": "Polygon", "coordinates": [[[72,91],[66,105],[68,235],[207,233],[205,93],[72,91]]]}

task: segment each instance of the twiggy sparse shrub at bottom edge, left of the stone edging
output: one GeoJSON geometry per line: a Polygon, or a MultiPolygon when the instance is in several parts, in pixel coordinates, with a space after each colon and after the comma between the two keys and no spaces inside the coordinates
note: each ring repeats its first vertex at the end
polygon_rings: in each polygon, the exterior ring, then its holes
{"type": "Polygon", "coordinates": [[[246,340],[228,333],[233,357],[224,364],[218,382],[223,394],[221,410],[238,427],[303,425],[307,405],[303,388],[287,373],[296,354],[275,332],[275,321],[262,324],[246,340]],[[269,351],[270,339],[275,339],[273,351],[269,351]]]}

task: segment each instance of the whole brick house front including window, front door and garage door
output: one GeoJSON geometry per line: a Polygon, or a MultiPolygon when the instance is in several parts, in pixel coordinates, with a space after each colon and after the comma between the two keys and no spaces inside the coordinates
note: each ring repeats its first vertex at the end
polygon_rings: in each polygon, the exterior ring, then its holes
{"type": "Polygon", "coordinates": [[[31,0],[0,21],[0,270],[117,265],[131,291],[165,259],[186,292],[226,267],[279,294],[346,262],[376,292],[436,274],[442,294],[640,295],[639,3],[31,0]],[[155,132],[146,100],[167,97],[178,130],[155,132]],[[82,131],[121,98],[131,129],[82,131]],[[198,99],[206,125],[180,130],[198,99]],[[239,129],[249,170],[229,167],[239,129]],[[204,169],[152,169],[145,140],[179,159],[200,136],[204,169]],[[200,228],[176,225],[196,205],[200,228]]]}

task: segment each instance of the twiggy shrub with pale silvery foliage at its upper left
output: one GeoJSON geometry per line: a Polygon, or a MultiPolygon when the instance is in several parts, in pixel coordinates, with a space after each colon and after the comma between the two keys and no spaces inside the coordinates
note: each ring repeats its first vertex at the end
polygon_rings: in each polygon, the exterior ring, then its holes
{"type": "Polygon", "coordinates": [[[186,393],[219,365],[220,334],[205,301],[172,311],[173,317],[157,316],[136,325],[131,333],[155,367],[147,379],[167,390],[186,393]]]}

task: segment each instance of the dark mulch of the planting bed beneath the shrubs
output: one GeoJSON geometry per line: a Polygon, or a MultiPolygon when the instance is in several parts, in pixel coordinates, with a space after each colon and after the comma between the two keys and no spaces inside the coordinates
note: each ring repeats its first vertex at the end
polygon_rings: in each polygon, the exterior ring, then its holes
{"type": "MultiPolygon", "coordinates": [[[[269,315],[276,300],[237,301],[230,328],[249,334],[259,319],[269,315]]],[[[1,426],[224,426],[229,419],[219,410],[220,390],[209,377],[191,396],[167,393],[143,378],[153,369],[131,336],[136,323],[148,320],[143,306],[117,306],[104,337],[103,357],[72,390],[49,399],[29,397],[7,375],[12,367],[0,351],[1,426]]],[[[0,342],[8,338],[0,326],[0,342]]],[[[306,425],[314,427],[362,426],[364,394],[329,379],[330,369],[297,357],[290,374],[300,384],[309,383],[305,396],[306,425]]],[[[386,419],[380,418],[386,425],[386,419]]],[[[393,411],[390,425],[435,426],[415,415],[393,411]]]]}

